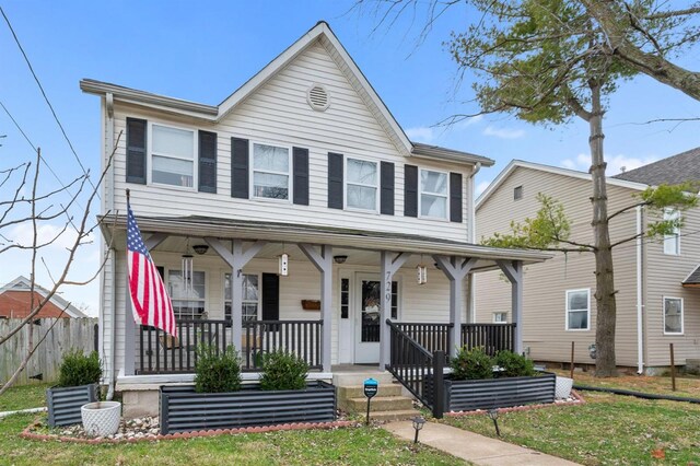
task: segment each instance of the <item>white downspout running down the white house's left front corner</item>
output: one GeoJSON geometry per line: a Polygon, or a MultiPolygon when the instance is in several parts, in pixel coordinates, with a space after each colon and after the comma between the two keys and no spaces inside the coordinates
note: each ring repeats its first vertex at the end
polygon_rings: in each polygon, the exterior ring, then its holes
{"type": "MultiPolygon", "coordinates": [[[[114,95],[108,92],[105,95],[105,101],[106,101],[106,109],[107,109],[107,137],[106,137],[106,143],[107,143],[107,148],[105,150],[105,158],[109,156],[109,154],[112,154],[112,151],[114,149],[114,95]]],[[[105,163],[106,163],[106,159],[105,159],[105,163]]],[[[115,187],[115,180],[116,180],[116,175],[114,173],[114,160],[113,163],[109,165],[109,189],[105,189],[105,197],[107,199],[105,199],[105,203],[107,206],[107,211],[113,212],[114,213],[114,206],[115,206],[115,201],[114,201],[114,187],[115,187]]],[[[113,233],[114,234],[114,233],[113,233]]],[[[114,369],[114,364],[115,364],[115,349],[116,349],[116,336],[117,336],[117,325],[116,325],[116,317],[117,317],[117,291],[116,291],[116,286],[115,286],[115,278],[116,278],[116,273],[117,273],[117,260],[115,257],[115,247],[112,246],[109,254],[112,254],[112,257],[109,258],[109,275],[112,277],[112,287],[110,287],[110,299],[109,299],[109,372],[108,372],[108,377],[109,377],[109,382],[108,382],[108,388],[107,388],[107,396],[106,399],[110,400],[112,398],[114,398],[114,388],[115,388],[115,369],[114,369]]],[[[103,325],[104,327],[104,325],[103,325]]]]}

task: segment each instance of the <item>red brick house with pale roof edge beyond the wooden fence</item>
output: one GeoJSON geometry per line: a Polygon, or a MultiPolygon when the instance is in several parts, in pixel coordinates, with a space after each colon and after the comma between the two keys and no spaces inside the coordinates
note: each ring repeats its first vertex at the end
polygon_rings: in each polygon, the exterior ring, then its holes
{"type": "MultiPolygon", "coordinates": [[[[34,284],[34,301],[32,301],[32,282],[25,277],[18,277],[4,287],[0,288],[0,318],[24,318],[32,306],[37,306],[49,293],[49,290],[34,284]]],[[[36,314],[36,318],[62,317],[75,318],[88,317],[78,307],[54,294],[36,314]]]]}

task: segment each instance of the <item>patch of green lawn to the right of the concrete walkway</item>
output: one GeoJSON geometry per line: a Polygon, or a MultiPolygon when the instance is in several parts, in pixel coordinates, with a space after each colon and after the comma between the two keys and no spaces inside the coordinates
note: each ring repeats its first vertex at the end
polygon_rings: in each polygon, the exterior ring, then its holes
{"type": "MultiPolygon", "coordinates": [[[[502,440],[585,465],[700,464],[700,406],[584,392],[586,404],[499,417],[502,440]],[[663,450],[665,459],[652,452],[663,450]]],[[[487,416],[443,422],[495,436],[487,416]]]]}

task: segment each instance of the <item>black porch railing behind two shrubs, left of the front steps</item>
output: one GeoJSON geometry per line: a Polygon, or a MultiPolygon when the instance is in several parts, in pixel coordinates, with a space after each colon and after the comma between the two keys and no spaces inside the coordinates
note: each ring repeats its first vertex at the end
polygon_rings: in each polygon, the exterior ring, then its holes
{"type": "Polygon", "coordinates": [[[250,321],[243,323],[242,341],[232,341],[230,321],[179,319],[177,338],[163,330],[141,326],[136,369],[139,374],[191,373],[197,366],[197,347],[222,351],[233,345],[242,371],[261,368],[265,353],[283,350],[299,354],[310,369],[322,369],[323,321],[250,321]]]}

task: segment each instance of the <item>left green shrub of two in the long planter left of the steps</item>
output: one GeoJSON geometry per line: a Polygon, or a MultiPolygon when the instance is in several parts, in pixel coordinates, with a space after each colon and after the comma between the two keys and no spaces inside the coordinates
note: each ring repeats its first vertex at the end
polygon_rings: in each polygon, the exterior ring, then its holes
{"type": "Polygon", "coordinates": [[[195,392],[226,393],[241,389],[241,364],[233,347],[219,351],[217,347],[197,348],[195,392]]]}

